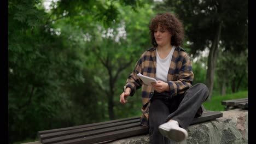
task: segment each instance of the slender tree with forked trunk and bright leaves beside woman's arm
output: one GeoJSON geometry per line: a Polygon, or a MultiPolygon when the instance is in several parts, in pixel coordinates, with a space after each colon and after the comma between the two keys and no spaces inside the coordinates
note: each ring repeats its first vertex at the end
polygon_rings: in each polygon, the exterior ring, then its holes
{"type": "Polygon", "coordinates": [[[95,77],[100,78],[98,85],[102,94],[107,96],[109,119],[115,119],[114,107],[117,106],[116,103],[119,104],[118,96],[137,58],[150,47],[148,22],[153,12],[147,10],[149,5],[144,7],[139,9],[143,14],[123,9],[120,13],[120,17],[124,17],[123,21],[107,29],[102,28],[101,35],[91,46],[91,51],[94,52],[92,56],[97,58],[96,63],[101,64],[94,64],[97,67],[95,69],[100,68],[95,77]],[[121,79],[122,73],[126,76],[121,79]],[[118,80],[123,83],[117,85],[120,83],[118,80]]]}

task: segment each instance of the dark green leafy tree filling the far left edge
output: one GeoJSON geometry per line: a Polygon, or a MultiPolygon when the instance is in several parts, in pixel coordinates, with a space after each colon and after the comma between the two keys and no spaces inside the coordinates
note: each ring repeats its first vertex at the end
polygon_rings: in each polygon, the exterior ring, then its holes
{"type": "Polygon", "coordinates": [[[37,3],[8,2],[9,142],[33,137],[30,131],[49,124],[63,103],[56,91],[61,81],[54,80],[58,75],[53,70],[56,53],[46,52],[60,41],[43,31],[45,13],[35,7],[37,3]]]}

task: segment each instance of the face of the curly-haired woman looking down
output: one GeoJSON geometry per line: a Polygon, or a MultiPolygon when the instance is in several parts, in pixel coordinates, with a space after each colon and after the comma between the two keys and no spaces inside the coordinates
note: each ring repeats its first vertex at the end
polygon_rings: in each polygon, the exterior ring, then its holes
{"type": "Polygon", "coordinates": [[[158,26],[154,31],[155,41],[159,46],[171,45],[171,33],[165,29],[158,26]]]}

